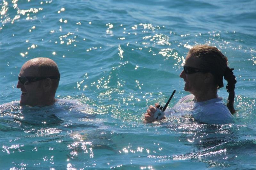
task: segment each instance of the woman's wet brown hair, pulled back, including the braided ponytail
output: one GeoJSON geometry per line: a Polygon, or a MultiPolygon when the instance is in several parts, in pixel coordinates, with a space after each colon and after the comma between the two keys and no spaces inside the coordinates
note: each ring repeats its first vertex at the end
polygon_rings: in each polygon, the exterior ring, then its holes
{"type": "Polygon", "coordinates": [[[226,86],[229,93],[227,107],[234,114],[236,112],[234,109],[236,76],[233,73],[234,68],[228,67],[227,57],[218,48],[207,45],[194,46],[188,54],[201,59],[200,68],[210,70],[214,75],[218,89],[223,87],[224,76],[224,79],[228,82],[226,86]]]}

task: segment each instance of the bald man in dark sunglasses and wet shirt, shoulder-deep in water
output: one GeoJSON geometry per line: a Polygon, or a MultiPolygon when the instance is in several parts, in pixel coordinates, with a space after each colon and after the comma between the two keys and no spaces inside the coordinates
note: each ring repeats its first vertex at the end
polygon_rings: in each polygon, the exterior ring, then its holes
{"type": "Polygon", "coordinates": [[[78,100],[55,99],[59,81],[60,72],[53,60],[42,57],[28,60],[18,76],[20,103],[0,105],[0,119],[15,118],[15,122],[45,125],[77,122],[77,119],[96,115],[92,108],[78,100]]]}

